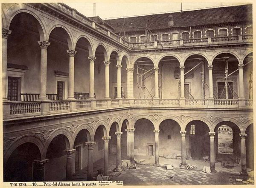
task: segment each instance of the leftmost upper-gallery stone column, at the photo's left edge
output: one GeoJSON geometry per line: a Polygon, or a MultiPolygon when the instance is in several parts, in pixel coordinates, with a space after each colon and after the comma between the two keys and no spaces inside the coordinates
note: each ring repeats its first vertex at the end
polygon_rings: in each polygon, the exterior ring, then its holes
{"type": "Polygon", "coordinates": [[[12,31],[2,28],[2,94],[3,101],[7,100],[7,43],[8,37],[12,33],[12,31]]]}

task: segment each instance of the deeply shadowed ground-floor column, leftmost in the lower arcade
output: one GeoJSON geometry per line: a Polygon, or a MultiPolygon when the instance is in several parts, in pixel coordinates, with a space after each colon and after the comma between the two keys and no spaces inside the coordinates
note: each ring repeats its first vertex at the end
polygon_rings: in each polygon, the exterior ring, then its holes
{"type": "Polygon", "coordinates": [[[33,181],[43,182],[44,181],[44,165],[49,161],[45,160],[34,160],[33,161],[33,181]]]}

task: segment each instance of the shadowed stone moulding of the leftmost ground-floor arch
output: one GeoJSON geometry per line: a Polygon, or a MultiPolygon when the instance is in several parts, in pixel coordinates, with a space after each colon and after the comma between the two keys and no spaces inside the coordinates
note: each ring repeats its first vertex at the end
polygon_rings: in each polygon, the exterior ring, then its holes
{"type": "Polygon", "coordinates": [[[45,158],[46,151],[44,150],[44,144],[42,143],[42,141],[35,135],[24,135],[22,137],[19,137],[8,148],[6,148],[6,152],[3,154],[4,163],[8,161],[12,152],[15,151],[17,147],[27,142],[35,144],[38,147],[41,154],[41,160],[45,158]]]}

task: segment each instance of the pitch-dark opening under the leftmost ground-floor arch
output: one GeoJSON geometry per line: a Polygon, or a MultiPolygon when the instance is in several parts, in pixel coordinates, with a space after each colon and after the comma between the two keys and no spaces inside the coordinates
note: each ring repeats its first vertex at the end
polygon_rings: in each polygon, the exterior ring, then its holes
{"type": "Polygon", "coordinates": [[[38,147],[30,142],[19,145],[4,165],[4,182],[33,181],[33,161],[41,160],[38,147]]]}

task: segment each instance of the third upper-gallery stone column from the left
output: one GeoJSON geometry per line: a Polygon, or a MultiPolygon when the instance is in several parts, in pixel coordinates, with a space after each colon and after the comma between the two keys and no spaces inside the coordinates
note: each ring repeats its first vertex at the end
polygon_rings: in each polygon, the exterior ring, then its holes
{"type": "Polygon", "coordinates": [[[67,50],[69,55],[69,74],[68,74],[68,99],[75,99],[74,84],[75,84],[75,50],[67,50]]]}

